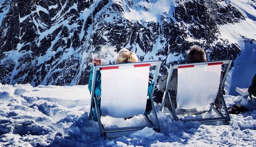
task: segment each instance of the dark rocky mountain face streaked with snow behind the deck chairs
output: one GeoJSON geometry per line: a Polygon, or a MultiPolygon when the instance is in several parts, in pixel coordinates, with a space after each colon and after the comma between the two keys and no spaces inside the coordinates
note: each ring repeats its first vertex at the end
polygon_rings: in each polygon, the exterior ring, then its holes
{"type": "Polygon", "coordinates": [[[0,0],[0,82],[87,84],[102,47],[161,58],[163,73],[193,45],[208,60],[234,59],[240,46],[219,38],[219,26],[244,19],[220,0],[0,0]]]}

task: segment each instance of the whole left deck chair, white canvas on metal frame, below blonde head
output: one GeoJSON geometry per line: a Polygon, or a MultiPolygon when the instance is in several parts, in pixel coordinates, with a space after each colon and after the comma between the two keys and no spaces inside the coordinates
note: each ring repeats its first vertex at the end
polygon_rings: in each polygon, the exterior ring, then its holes
{"type": "Polygon", "coordinates": [[[154,130],[158,132],[160,131],[157,113],[153,102],[153,94],[160,66],[160,61],[101,66],[94,65],[89,119],[92,119],[93,103],[95,103],[100,134],[104,139],[110,138],[107,136],[107,133],[135,131],[143,129],[144,127],[150,127],[154,128],[154,130]],[[149,96],[152,103],[153,115],[155,117],[154,123],[146,114],[144,114],[147,101],[148,76],[151,66],[156,66],[153,79],[153,91],[149,96]],[[100,108],[98,107],[98,102],[94,97],[94,83],[97,70],[101,71],[100,108]],[[142,114],[147,126],[104,128],[101,124],[99,109],[101,109],[102,115],[108,115],[116,118],[142,114]]]}

